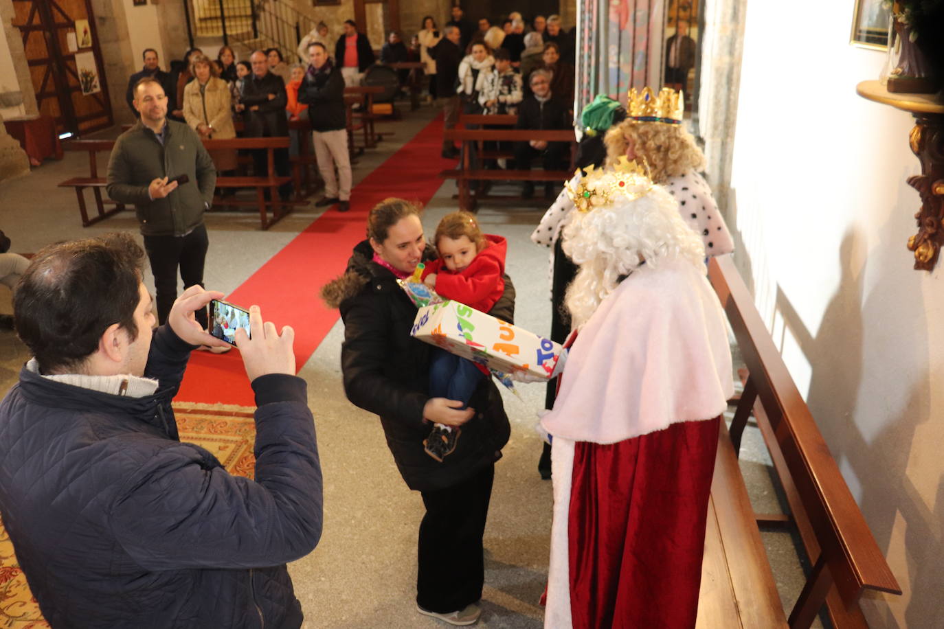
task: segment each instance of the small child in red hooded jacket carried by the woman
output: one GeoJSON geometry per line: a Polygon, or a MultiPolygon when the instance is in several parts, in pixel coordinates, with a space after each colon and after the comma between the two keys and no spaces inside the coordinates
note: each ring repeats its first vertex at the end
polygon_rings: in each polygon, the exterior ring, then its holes
{"type": "MultiPolygon", "coordinates": [[[[469,212],[452,212],[436,227],[434,237],[439,259],[427,263],[423,282],[441,296],[488,312],[505,290],[507,241],[483,234],[469,212]]],[[[457,400],[468,406],[482,375],[488,370],[446,350],[433,350],[430,360],[430,395],[457,400]]],[[[437,461],[456,448],[458,426],[435,424],[423,441],[428,455],[437,461]]]]}

